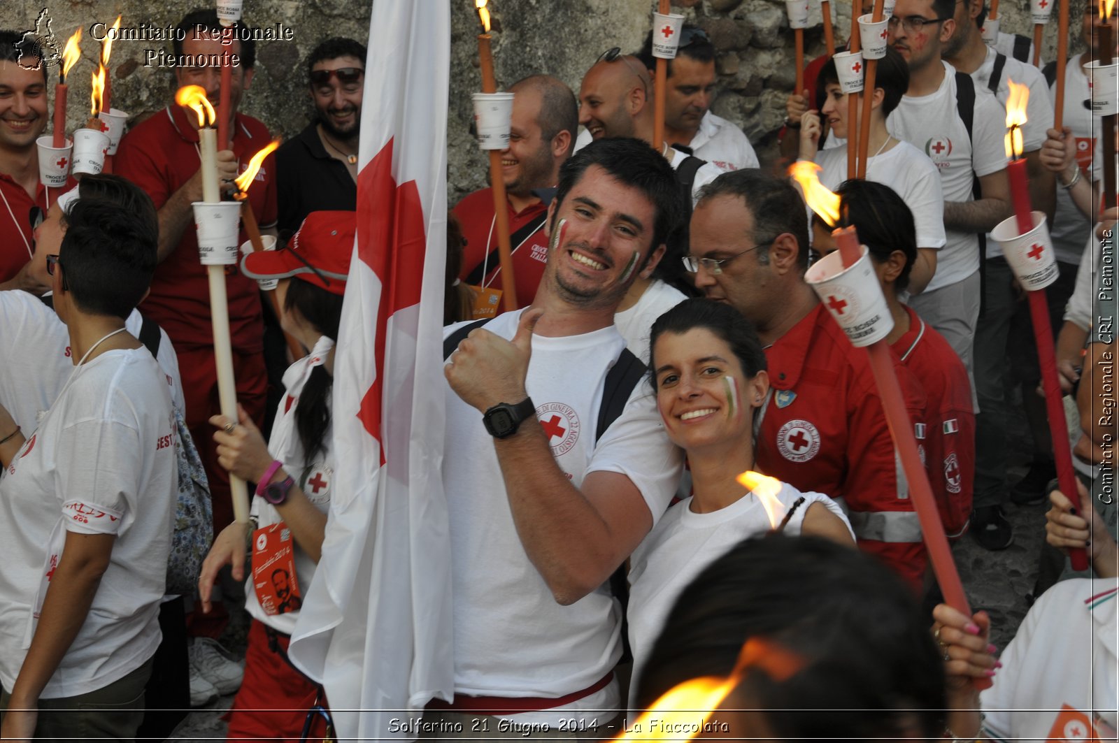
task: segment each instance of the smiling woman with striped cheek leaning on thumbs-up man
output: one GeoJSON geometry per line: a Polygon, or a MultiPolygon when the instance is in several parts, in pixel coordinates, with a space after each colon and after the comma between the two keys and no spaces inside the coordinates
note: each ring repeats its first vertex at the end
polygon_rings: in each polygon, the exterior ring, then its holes
{"type": "Polygon", "coordinates": [[[742,539],[771,528],[763,498],[777,501],[775,518],[788,519],[784,533],[855,544],[830,498],[751,471],[754,417],[768,399],[769,377],[758,335],[741,313],[686,300],[653,323],[651,347],[657,406],[669,439],[687,453],[694,495],[669,508],[630,558],[634,678],[692,579],[742,539]]]}

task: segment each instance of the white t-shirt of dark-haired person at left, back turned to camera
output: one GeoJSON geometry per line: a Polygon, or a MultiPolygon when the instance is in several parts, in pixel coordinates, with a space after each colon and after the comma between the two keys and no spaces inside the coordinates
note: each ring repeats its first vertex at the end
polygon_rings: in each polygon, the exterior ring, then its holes
{"type": "Polygon", "coordinates": [[[109,534],[115,540],[82,629],[40,696],[94,692],[156,652],[178,493],[175,413],[163,377],[145,348],[109,350],[75,367],[68,386],[4,470],[4,688],[12,688],[30,647],[69,532],[109,534]]]}

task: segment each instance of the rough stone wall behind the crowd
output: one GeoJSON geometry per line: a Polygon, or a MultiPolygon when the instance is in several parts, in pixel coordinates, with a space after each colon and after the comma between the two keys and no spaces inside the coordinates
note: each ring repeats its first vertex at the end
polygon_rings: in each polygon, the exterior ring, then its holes
{"type": "MultiPolygon", "coordinates": [[[[478,72],[477,35],[480,32],[472,0],[396,0],[435,3],[450,1],[451,95],[448,132],[448,196],[451,204],[486,184],[487,161],[470,133],[470,94],[481,90],[478,72]]],[[[30,28],[46,0],[2,0],[0,27],[30,28]]],[[[56,0],[50,7],[53,29],[62,43],[77,26],[83,40],[83,63],[72,74],[68,130],[88,111],[90,73],[94,70],[98,45],[88,37],[97,22],[112,23],[116,12],[123,23],[166,27],[175,25],[196,0],[56,0]]],[[[493,57],[499,85],[525,75],[548,73],[579,92],[583,73],[605,49],[620,46],[637,49],[651,20],[650,0],[492,0],[493,57]]],[[[806,55],[824,51],[819,3],[812,26],[805,32],[806,55]]],[[[365,40],[369,23],[367,0],[246,0],[245,20],[262,28],[290,28],[290,41],[257,45],[256,77],[245,94],[242,110],[257,116],[285,137],[305,125],[311,113],[305,93],[302,60],[328,36],[365,40]]],[[[1071,51],[1082,49],[1079,21],[1082,4],[1073,3],[1071,51]]],[[[718,49],[718,92],[715,113],[737,123],[758,149],[762,161],[775,153],[775,133],[784,117],[784,100],[794,81],[793,35],[788,27],[783,2],[773,0],[677,0],[674,12],[711,35],[718,49]]],[[[850,3],[833,3],[836,39],[847,37],[850,3]]],[[[1032,35],[1028,0],[1000,0],[999,16],[1005,31],[1032,35]]],[[[1056,19],[1046,28],[1043,57],[1052,59],[1056,48],[1056,19]]],[[[113,47],[111,75],[113,104],[140,119],[166,105],[173,86],[169,68],[145,67],[147,49],[170,50],[159,41],[117,41],[113,47]]],[[[366,102],[375,105],[375,102],[366,102]]]]}

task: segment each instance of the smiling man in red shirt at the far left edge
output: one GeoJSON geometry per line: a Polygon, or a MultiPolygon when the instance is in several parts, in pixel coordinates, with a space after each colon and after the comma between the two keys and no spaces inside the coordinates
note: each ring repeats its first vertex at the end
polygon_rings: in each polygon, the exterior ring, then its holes
{"type": "Polygon", "coordinates": [[[74,181],[51,189],[39,182],[35,140],[50,121],[47,67],[31,54],[20,59],[16,45],[22,38],[20,32],[0,30],[0,290],[41,294],[50,286],[28,270],[35,253],[32,233],[50,204],[74,181]]]}

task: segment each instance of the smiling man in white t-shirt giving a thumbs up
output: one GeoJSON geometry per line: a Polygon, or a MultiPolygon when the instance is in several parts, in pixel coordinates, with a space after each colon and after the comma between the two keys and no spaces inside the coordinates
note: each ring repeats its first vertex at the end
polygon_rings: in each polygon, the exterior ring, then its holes
{"type": "MultiPolygon", "coordinates": [[[[482,720],[598,733],[620,703],[620,606],[605,585],[667,508],[680,455],[638,383],[598,430],[624,341],[614,309],[678,224],[671,168],[633,139],[568,160],[533,305],[450,356],[446,455],[455,697],[429,730],[482,720]],[[472,711],[496,711],[495,720],[472,711]]],[[[453,332],[449,329],[448,332],[453,332]]],[[[478,728],[476,728],[478,730],[478,728]]]]}

